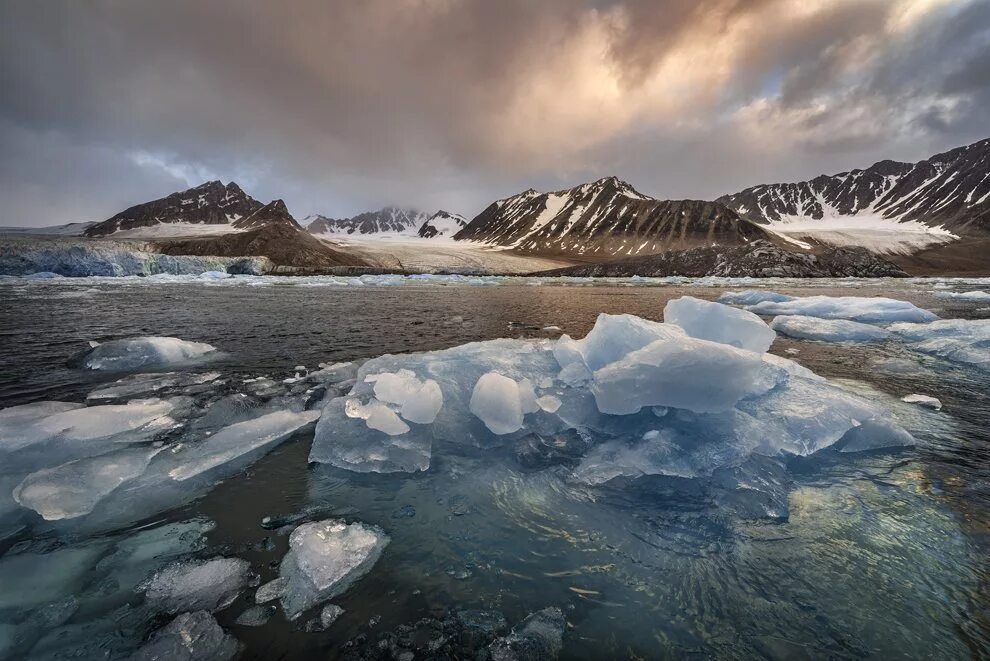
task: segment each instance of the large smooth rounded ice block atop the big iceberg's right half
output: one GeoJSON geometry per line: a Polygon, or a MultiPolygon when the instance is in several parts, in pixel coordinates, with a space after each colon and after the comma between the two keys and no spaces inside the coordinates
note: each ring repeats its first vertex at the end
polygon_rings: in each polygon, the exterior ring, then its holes
{"type": "Polygon", "coordinates": [[[761,354],[684,335],[657,340],[594,373],[591,392],[602,413],[644,406],[725,411],[767,390],[761,354]]]}

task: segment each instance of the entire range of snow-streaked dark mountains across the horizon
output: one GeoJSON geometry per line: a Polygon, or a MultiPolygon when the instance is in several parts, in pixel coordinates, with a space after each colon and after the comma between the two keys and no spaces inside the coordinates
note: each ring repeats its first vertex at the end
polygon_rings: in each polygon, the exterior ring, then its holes
{"type": "Polygon", "coordinates": [[[276,263],[300,268],[363,263],[341,238],[406,237],[570,263],[713,247],[731,255],[723,249],[754,242],[799,253],[865,247],[905,268],[940,272],[965,263],[969,271],[990,271],[990,139],[917,163],[880,161],[713,201],[655,199],[605,177],[553,192],[529,189],[493,202],[470,222],[447,211],[388,206],[349,218],[309,216],[304,223],[305,229],[281,200],[266,205],[234,182],[210,181],[57,231],[153,239],[169,254],[274,255],[276,263]],[[258,250],[264,252],[242,252],[258,250]]]}

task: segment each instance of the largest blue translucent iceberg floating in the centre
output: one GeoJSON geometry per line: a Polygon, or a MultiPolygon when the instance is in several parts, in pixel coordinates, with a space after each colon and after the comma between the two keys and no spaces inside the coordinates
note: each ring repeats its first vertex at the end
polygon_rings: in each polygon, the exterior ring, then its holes
{"type": "MultiPolygon", "coordinates": [[[[739,336],[752,330],[745,323],[739,336]]],[[[882,415],[878,405],[786,358],[693,338],[673,324],[603,314],[581,340],[493,340],[370,360],[352,392],[326,405],[310,460],[413,472],[429,468],[441,449],[508,444],[527,469],[567,463],[588,484],[698,478],[753,455],[812,454],[882,415]],[[346,415],[351,401],[374,396],[365,375],[402,369],[435,380],[443,393],[432,425],[411,423],[390,436],[346,415]],[[574,432],[587,442],[564,443],[566,457],[558,457],[553,439],[574,432]]]]}

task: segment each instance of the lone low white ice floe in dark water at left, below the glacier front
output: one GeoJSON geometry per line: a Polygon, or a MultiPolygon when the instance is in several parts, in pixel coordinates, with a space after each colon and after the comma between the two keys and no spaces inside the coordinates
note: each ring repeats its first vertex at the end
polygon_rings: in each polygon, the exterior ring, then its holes
{"type": "Polygon", "coordinates": [[[177,337],[131,337],[111,340],[92,347],[69,361],[70,367],[88,370],[130,372],[135,370],[189,365],[217,356],[216,347],[205,342],[189,342],[177,337]]]}

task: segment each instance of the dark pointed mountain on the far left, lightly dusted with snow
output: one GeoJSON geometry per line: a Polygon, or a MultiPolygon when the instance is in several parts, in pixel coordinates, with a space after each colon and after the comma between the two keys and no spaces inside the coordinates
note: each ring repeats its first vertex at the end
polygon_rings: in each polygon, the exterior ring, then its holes
{"type": "MultiPolygon", "coordinates": [[[[159,229],[157,226],[160,225],[224,226],[251,215],[263,206],[234,182],[224,185],[220,181],[208,181],[195,188],[125,209],[87,228],[85,235],[107,236],[139,228],[152,228],[150,232],[142,231],[153,235],[153,230],[159,229]]],[[[193,231],[196,229],[201,227],[192,228],[193,231]]],[[[222,231],[223,228],[216,229],[222,231]]],[[[168,228],[172,233],[181,230],[182,227],[168,228]]]]}

